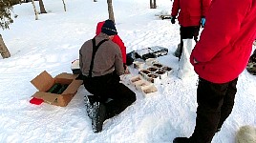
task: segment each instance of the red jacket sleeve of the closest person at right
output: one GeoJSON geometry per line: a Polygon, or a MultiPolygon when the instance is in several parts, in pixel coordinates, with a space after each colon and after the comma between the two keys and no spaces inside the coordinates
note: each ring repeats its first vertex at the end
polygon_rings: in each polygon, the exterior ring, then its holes
{"type": "Polygon", "coordinates": [[[222,51],[240,31],[248,6],[248,0],[214,0],[191,59],[194,57],[199,62],[207,62],[222,51]]]}

